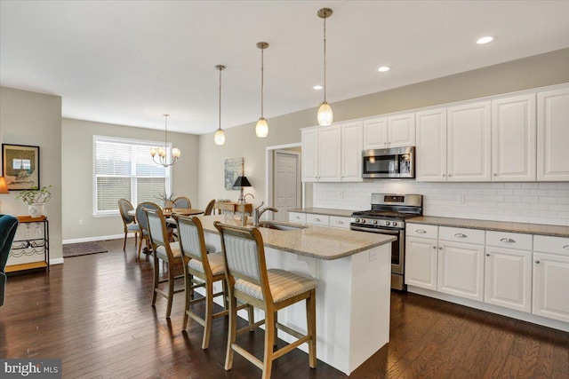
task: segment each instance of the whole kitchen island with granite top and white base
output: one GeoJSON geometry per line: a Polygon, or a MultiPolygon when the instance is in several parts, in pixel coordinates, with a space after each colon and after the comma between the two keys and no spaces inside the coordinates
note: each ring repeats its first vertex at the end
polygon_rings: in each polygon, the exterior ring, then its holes
{"type": "MultiPolygon", "coordinates": [[[[220,238],[213,223],[236,225],[227,215],[198,218],[206,243],[218,249],[220,238]]],[[[304,226],[287,231],[259,228],[267,267],[317,280],[317,359],[349,375],[389,342],[390,245],[395,237],[304,226]]],[[[263,317],[255,310],[255,320],[263,317]]],[[[278,320],[306,331],[304,304],[279,312],[278,320]]],[[[278,336],[294,340],[281,330],[278,336]]],[[[307,351],[306,344],[300,348],[307,351]]]]}

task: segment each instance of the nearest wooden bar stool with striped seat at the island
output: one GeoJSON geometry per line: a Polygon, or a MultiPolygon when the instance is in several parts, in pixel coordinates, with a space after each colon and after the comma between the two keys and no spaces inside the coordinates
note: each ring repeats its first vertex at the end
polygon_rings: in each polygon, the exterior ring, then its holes
{"type": "Polygon", "coordinates": [[[234,351],[262,369],[269,378],[273,360],[292,351],[301,343],[309,343],[309,366],[317,367],[316,288],[317,281],[279,269],[267,270],[263,239],[257,228],[213,223],[220,232],[223,263],[228,280],[229,333],[225,369],[233,364],[234,351]],[[260,360],[236,343],[236,300],[252,304],[265,312],[265,347],[260,360]],[[289,305],[306,301],[306,335],[288,328],[276,320],[276,312],[289,305]],[[276,328],[298,338],[293,343],[273,351],[276,328]]]}

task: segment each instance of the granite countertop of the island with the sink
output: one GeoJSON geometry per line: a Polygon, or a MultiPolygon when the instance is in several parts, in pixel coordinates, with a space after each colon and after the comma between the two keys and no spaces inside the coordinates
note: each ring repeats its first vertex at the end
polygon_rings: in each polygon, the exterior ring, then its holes
{"type": "MultiPolygon", "coordinates": [[[[227,215],[198,216],[198,218],[202,221],[205,233],[218,233],[213,226],[214,221],[238,225],[233,217],[227,215]]],[[[267,248],[325,260],[349,257],[361,251],[396,241],[394,236],[385,234],[363,233],[313,225],[303,226],[306,228],[293,231],[264,227],[259,228],[259,230],[267,248]]]]}

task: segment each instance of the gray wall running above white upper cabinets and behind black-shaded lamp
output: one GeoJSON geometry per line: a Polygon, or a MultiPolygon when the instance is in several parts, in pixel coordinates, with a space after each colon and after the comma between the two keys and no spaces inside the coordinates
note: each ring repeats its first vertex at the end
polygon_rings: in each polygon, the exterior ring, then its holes
{"type": "MultiPolygon", "coordinates": [[[[375,114],[388,114],[521,91],[557,83],[569,83],[569,49],[551,51],[492,67],[445,76],[389,91],[382,91],[332,104],[334,122],[375,114]]],[[[330,78],[333,81],[333,78],[330,78]]],[[[199,200],[236,200],[238,193],[223,189],[223,161],[244,157],[244,172],[252,183],[254,203],[265,201],[265,148],[301,142],[301,128],[317,125],[314,108],[268,119],[268,137],[255,137],[254,122],[226,131],[224,146],[213,144],[213,133],[199,137],[199,200]]],[[[307,190],[309,192],[309,190],[307,190]]],[[[267,201],[265,201],[267,202],[267,201]]]]}

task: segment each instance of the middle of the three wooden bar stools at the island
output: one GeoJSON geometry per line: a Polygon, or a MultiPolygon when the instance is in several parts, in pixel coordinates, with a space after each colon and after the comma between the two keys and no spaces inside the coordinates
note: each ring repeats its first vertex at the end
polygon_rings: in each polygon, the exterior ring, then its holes
{"type": "MultiPolygon", "coordinates": [[[[210,343],[212,320],[228,315],[228,291],[223,255],[221,252],[208,254],[204,239],[204,227],[198,217],[174,216],[174,218],[180,233],[180,250],[184,259],[184,282],[186,285],[186,305],[184,307],[182,329],[185,330],[187,328],[188,317],[202,325],[204,327],[202,349],[205,350],[210,343]],[[222,289],[220,292],[213,293],[213,283],[216,281],[221,282],[222,289]],[[204,288],[205,296],[192,299],[193,291],[196,288],[204,288]],[[214,313],[213,299],[217,296],[223,296],[223,304],[225,306],[222,311],[214,313]],[[201,302],[205,302],[205,315],[203,318],[192,310],[192,305],[201,302]]],[[[243,308],[248,310],[248,328],[250,328],[253,324],[252,306],[243,304],[238,307],[238,309],[243,308]]]]}

